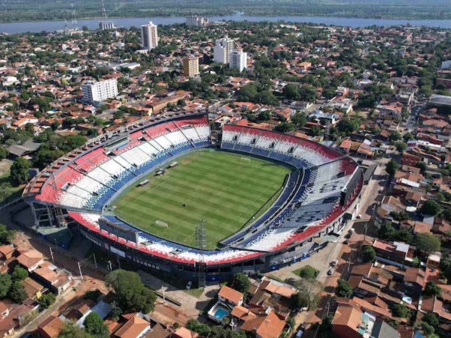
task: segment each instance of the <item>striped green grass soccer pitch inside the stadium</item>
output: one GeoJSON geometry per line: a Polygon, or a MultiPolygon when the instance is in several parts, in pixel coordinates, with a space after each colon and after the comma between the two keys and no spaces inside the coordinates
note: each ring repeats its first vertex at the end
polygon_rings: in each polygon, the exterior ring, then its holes
{"type": "Polygon", "coordinates": [[[132,186],[113,204],[123,220],[191,246],[195,246],[195,225],[205,220],[207,248],[211,249],[256,212],[268,209],[289,172],[287,167],[257,158],[198,151],[180,158],[162,176],[149,175],[147,185],[132,186]]]}

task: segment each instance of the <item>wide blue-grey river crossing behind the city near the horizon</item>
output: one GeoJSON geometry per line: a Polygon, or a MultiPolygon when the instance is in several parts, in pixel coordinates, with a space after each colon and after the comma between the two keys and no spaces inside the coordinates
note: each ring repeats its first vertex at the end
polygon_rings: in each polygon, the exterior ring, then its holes
{"type": "MultiPolygon", "coordinates": [[[[400,26],[410,24],[412,26],[427,26],[438,27],[444,29],[451,29],[451,20],[390,20],[390,19],[363,19],[363,18],[335,18],[335,17],[250,17],[240,14],[224,17],[210,17],[210,21],[279,21],[284,20],[286,22],[294,23],[314,23],[336,26],[350,26],[354,28],[367,27],[367,26],[400,26]]],[[[184,17],[156,17],[156,18],[122,18],[122,19],[109,19],[114,22],[118,27],[129,28],[131,26],[139,27],[149,21],[153,21],[157,25],[171,25],[182,24],[185,22],[184,17]]],[[[96,29],[99,27],[100,19],[95,20],[79,20],[76,27],[80,29],[83,26],[87,26],[90,29],[96,29]]],[[[54,32],[56,30],[63,29],[65,26],[64,21],[37,21],[37,22],[23,22],[23,23],[9,23],[0,24],[0,33],[24,33],[24,32],[54,32]]],[[[72,23],[69,22],[69,26],[72,23]]]]}

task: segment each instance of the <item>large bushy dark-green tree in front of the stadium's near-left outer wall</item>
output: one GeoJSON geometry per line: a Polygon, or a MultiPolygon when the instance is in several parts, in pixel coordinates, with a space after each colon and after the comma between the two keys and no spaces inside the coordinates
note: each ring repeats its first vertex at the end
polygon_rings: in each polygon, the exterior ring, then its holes
{"type": "Polygon", "coordinates": [[[114,288],[121,308],[143,313],[153,310],[155,293],[141,282],[136,272],[114,270],[105,277],[105,283],[114,288]]]}

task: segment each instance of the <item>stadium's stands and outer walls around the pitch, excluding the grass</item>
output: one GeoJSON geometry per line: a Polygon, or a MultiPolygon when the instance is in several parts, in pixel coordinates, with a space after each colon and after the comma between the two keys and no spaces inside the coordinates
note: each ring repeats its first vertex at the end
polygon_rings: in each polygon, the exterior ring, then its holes
{"type": "Polygon", "coordinates": [[[124,259],[181,278],[216,281],[279,269],[327,245],[326,235],[355,216],[362,185],[358,165],[321,144],[235,125],[225,125],[216,139],[206,115],[176,113],[137,121],[66,154],[34,177],[23,197],[37,228],[75,221],[86,238],[124,259]],[[124,189],[206,147],[282,162],[293,171],[272,206],[215,250],[159,238],[114,215],[109,203],[124,189]]]}

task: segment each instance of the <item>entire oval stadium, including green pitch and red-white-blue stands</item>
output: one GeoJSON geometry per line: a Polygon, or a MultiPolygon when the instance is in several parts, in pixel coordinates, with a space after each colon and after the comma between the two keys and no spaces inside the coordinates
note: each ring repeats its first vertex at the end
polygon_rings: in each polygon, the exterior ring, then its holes
{"type": "Polygon", "coordinates": [[[66,154],[24,190],[35,227],[75,222],[135,264],[208,282],[308,257],[355,216],[363,175],[351,158],[286,134],[213,127],[205,114],[175,113],[66,154]]]}

